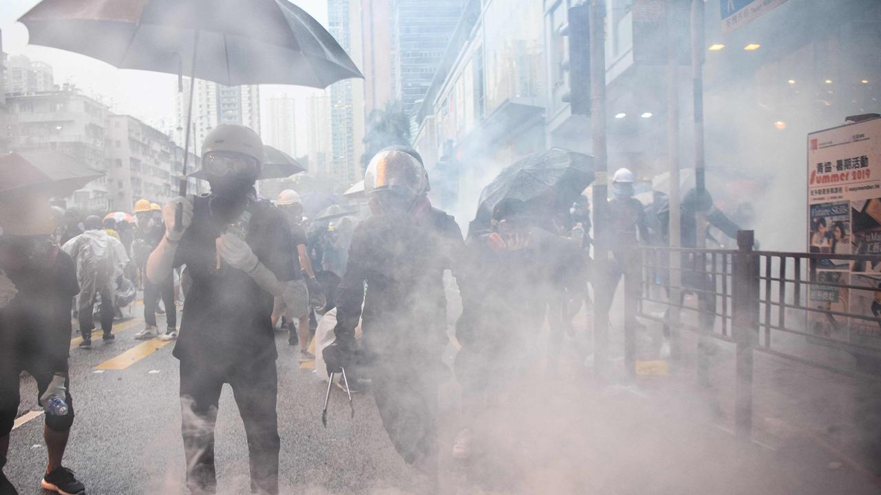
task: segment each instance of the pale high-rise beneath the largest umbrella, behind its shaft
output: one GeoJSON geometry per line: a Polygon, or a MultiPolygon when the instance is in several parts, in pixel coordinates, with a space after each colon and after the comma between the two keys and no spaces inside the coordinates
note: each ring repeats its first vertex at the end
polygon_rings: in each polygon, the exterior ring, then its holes
{"type": "MultiPolygon", "coordinates": [[[[189,78],[183,80],[183,91],[177,93],[177,122],[174,140],[181,146],[186,139],[189,78]]],[[[196,97],[190,123],[190,150],[201,150],[205,136],[219,124],[247,125],[260,133],[260,88],[257,85],[225,86],[196,79],[196,97]],[[195,129],[195,130],[194,130],[195,129]]]]}

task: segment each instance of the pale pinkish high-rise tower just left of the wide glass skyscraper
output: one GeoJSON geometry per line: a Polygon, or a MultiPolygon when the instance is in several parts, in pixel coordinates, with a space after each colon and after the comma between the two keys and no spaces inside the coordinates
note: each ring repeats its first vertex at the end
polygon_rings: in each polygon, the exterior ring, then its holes
{"type": "Polygon", "coordinates": [[[361,0],[364,47],[364,110],[370,115],[395,98],[395,45],[392,43],[392,0],[361,0]]]}

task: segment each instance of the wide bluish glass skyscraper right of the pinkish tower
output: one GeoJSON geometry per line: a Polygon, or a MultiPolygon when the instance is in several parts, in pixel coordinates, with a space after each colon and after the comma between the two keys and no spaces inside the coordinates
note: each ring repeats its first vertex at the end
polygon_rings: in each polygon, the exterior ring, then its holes
{"type": "Polygon", "coordinates": [[[426,97],[434,71],[462,16],[463,0],[391,0],[395,90],[411,115],[426,97]]]}

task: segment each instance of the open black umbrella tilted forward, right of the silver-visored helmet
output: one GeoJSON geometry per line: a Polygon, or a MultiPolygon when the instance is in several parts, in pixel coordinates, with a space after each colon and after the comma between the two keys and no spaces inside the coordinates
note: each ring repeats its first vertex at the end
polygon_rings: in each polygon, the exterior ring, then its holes
{"type": "Polygon", "coordinates": [[[492,209],[505,198],[521,200],[529,215],[546,222],[568,211],[592,181],[594,158],[590,155],[562,148],[533,153],[507,166],[484,188],[471,230],[489,227],[492,209]]]}

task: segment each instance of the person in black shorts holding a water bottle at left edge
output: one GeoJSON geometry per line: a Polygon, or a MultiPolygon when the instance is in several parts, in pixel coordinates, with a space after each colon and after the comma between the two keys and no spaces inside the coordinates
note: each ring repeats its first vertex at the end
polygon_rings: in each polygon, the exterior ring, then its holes
{"type": "Polygon", "coordinates": [[[48,465],[41,487],[85,493],[62,465],[74,417],[68,350],[70,310],[79,292],[76,264],[52,240],[56,225],[48,198],[33,190],[0,199],[0,228],[0,493],[17,493],[2,469],[19,410],[22,371],[36,380],[41,405],[56,397],[67,405],[64,414],[45,415],[48,465]]]}

